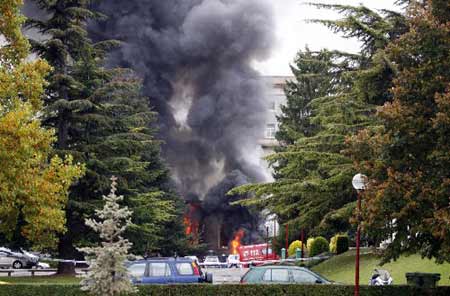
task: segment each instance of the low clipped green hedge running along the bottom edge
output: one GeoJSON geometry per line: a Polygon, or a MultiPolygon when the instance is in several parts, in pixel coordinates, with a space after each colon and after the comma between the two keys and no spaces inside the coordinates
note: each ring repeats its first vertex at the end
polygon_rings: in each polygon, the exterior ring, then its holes
{"type": "MultiPolygon", "coordinates": [[[[78,286],[70,285],[2,285],[0,296],[86,296],[78,286]]],[[[301,285],[174,285],[141,286],[135,296],[351,296],[352,286],[301,286],[301,285]]],[[[450,287],[421,290],[411,286],[361,287],[361,296],[448,296],[450,287]]]]}

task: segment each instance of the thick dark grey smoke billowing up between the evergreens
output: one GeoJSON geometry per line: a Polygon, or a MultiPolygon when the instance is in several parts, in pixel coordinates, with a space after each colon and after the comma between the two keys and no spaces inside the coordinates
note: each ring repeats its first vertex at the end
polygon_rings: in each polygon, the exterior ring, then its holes
{"type": "Polygon", "coordinates": [[[160,114],[164,156],[179,190],[204,199],[229,172],[267,177],[257,140],[264,85],[251,63],[269,54],[274,24],[265,0],[110,0],[95,39],[122,46],[111,64],[144,78],[160,114]]]}

